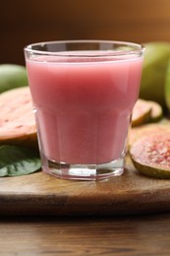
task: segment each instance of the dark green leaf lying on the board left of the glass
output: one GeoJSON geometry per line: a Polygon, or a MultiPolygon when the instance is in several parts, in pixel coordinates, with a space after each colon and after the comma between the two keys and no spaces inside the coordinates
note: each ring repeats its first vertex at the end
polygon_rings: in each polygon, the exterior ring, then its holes
{"type": "Polygon", "coordinates": [[[40,167],[37,151],[21,146],[0,147],[0,177],[26,175],[40,167]]]}

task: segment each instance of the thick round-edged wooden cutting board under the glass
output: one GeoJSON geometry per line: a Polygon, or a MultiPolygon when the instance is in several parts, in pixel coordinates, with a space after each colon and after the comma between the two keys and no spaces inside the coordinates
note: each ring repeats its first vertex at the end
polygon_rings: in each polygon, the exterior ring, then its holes
{"type": "Polygon", "coordinates": [[[0,215],[122,216],[170,211],[170,180],[140,174],[127,159],[122,176],[62,180],[43,172],[0,178],[0,215]]]}

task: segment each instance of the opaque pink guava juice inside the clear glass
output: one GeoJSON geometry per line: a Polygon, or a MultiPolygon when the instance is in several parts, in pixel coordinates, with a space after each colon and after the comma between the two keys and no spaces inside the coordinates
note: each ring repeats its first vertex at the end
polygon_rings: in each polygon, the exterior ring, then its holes
{"type": "Polygon", "coordinates": [[[142,56],[101,61],[37,57],[27,60],[27,68],[45,158],[99,164],[125,155],[142,56]]]}

